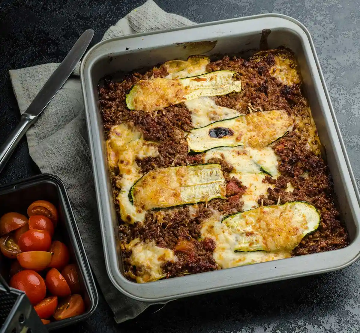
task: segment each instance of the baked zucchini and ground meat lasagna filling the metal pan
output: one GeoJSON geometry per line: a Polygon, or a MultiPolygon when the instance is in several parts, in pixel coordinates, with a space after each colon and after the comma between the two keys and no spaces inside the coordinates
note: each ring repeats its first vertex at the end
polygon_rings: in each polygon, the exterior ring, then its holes
{"type": "Polygon", "coordinates": [[[99,101],[130,280],[348,245],[291,50],[167,61],[99,101]]]}

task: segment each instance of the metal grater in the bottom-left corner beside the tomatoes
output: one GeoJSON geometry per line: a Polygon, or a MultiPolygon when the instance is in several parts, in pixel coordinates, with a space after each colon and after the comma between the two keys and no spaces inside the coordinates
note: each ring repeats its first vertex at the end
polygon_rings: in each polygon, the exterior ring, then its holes
{"type": "Polygon", "coordinates": [[[0,275],[0,333],[47,333],[23,291],[10,288],[0,275]]]}

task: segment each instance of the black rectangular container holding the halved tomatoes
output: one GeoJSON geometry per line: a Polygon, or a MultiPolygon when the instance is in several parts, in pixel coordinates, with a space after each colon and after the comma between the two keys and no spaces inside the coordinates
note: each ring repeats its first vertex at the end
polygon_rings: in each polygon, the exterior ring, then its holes
{"type": "Polygon", "coordinates": [[[48,330],[53,330],[88,318],[98,305],[98,292],[69,197],[63,182],[58,177],[41,174],[0,187],[0,215],[9,211],[26,215],[27,207],[35,200],[48,200],[58,209],[59,221],[56,233],[61,237],[60,240],[68,246],[71,262],[76,263],[79,268],[81,294],[84,296],[85,302],[84,314],[46,325],[48,330]]]}

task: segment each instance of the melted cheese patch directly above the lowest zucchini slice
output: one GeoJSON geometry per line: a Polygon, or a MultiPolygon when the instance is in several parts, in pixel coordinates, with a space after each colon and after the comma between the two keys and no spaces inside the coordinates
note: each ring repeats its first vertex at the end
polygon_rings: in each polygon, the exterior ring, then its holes
{"type": "Polygon", "coordinates": [[[230,173],[230,177],[235,177],[247,187],[245,193],[240,198],[244,201],[242,210],[249,210],[259,206],[257,200],[260,195],[263,194],[266,197],[267,189],[269,187],[274,188],[275,185],[267,182],[262,182],[266,177],[265,174],[253,174],[253,173],[230,173]]]}

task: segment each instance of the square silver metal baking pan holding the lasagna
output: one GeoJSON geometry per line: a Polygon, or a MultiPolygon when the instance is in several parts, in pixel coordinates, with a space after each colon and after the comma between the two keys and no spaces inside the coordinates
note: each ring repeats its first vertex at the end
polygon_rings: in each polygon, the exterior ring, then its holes
{"type": "Polygon", "coordinates": [[[339,132],[315,47],[307,29],[297,20],[279,14],[264,14],[219,22],[196,24],[169,31],[141,33],[104,40],[85,55],[81,84],[100,225],[107,272],[114,286],[140,301],[164,301],[206,292],[301,277],[344,268],[359,258],[359,191],[339,132]],[[317,254],[292,257],[185,277],[138,284],[122,274],[118,245],[118,222],[108,174],[102,119],[99,112],[99,79],[115,72],[149,67],[189,55],[242,52],[243,57],[258,49],[261,31],[270,29],[269,48],[280,45],[296,55],[321,142],[334,179],[341,219],[350,234],[349,246],[317,254]],[[248,51],[246,51],[248,50],[248,51]]]}

